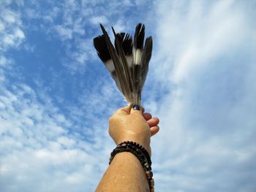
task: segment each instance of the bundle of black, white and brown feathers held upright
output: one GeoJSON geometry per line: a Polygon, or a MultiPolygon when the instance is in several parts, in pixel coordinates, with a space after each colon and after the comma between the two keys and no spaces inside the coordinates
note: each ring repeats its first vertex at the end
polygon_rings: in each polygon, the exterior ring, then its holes
{"type": "Polygon", "coordinates": [[[147,37],[144,44],[145,26],[139,23],[135,35],[124,32],[116,34],[114,45],[110,42],[108,33],[102,28],[102,35],[94,38],[94,47],[105,64],[116,86],[123,93],[129,105],[141,105],[141,92],[148,73],[148,64],[152,53],[152,37],[147,37]]]}

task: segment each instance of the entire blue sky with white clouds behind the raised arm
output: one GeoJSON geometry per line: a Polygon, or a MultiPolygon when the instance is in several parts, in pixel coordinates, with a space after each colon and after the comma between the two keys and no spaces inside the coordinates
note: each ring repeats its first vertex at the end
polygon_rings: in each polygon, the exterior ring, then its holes
{"type": "MultiPolygon", "coordinates": [[[[124,107],[102,32],[145,23],[156,191],[256,191],[256,2],[0,0],[0,191],[94,191],[124,107]]],[[[110,37],[113,39],[113,35],[110,37]]]]}

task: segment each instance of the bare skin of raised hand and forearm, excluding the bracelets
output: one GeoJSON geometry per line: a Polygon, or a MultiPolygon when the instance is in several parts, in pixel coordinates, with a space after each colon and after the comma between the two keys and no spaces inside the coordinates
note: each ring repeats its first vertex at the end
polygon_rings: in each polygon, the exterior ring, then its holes
{"type": "MultiPolygon", "coordinates": [[[[124,141],[137,142],[151,155],[150,138],[159,131],[159,119],[143,110],[123,107],[109,120],[109,134],[116,145],[124,141]]],[[[132,153],[116,154],[96,189],[99,191],[149,191],[146,174],[132,153]]]]}

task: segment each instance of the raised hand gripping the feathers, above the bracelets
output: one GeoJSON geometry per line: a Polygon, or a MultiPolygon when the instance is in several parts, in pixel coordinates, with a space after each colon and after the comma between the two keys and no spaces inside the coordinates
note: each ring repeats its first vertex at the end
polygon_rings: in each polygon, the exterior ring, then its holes
{"type": "Polygon", "coordinates": [[[118,145],[124,141],[138,142],[151,154],[150,137],[159,131],[158,118],[152,118],[143,110],[123,107],[117,110],[109,120],[109,134],[118,145]]]}

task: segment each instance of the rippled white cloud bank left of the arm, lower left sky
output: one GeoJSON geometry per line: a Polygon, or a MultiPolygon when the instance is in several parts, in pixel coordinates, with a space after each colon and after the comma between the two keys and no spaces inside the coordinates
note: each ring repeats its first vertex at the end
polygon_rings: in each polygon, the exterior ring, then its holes
{"type": "Polygon", "coordinates": [[[94,121],[101,124],[87,133],[93,144],[77,132],[86,124],[75,125],[49,98],[27,85],[12,85],[8,91],[2,84],[0,92],[2,190],[34,191],[33,183],[37,183],[39,191],[93,191],[108,165],[108,152],[102,147],[112,145],[104,138],[106,130],[99,134],[106,128],[102,120],[90,121],[91,126],[96,126],[94,121]]]}

